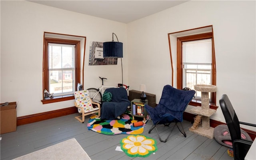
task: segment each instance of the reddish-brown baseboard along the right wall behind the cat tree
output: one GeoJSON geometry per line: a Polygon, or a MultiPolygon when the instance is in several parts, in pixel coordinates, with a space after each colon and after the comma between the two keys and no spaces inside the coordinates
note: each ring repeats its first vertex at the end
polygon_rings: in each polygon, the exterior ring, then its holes
{"type": "MultiPolygon", "coordinates": [[[[183,119],[184,120],[187,120],[191,123],[194,123],[194,117],[196,115],[195,114],[191,114],[191,113],[188,113],[188,112],[184,112],[183,113],[183,119]]],[[[220,121],[217,121],[217,120],[212,120],[210,119],[210,126],[212,128],[215,128],[216,126],[220,125],[220,124],[226,124],[226,123],[223,123],[223,122],[220,122],[220,121]]],[[[249,134],[249,136],[252,138],[252,140],[255,139],[256,137],[256,132],[252,131],[252,130],[248,130],[248,129],[245,129],[245,128],[242,128],[245,132],[247,132],[249,134]]]]}

